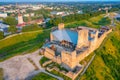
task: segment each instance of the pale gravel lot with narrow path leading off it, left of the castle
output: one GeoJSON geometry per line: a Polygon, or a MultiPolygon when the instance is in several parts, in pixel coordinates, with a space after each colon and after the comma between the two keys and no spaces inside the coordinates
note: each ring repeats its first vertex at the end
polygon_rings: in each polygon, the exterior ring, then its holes
{"type": "Polygon", "coordinates": [[[58,80],[63,80],[61,77],[46,72],[45,69],[41,67],[39,61],[42,57],[42,55],[39,55],[39,50],[37,50],[30,54],[18,55],[0,62],[0,68],[3,68],[4,70],[4,79],[30,80],[36,74],[44,72],[52,77],[55,77],[58,80]],[[32,60],[32,62],[29,61],[29,59],[32,60]],[[36,70],[35,66],[38,67],[38,70],[36,70]]]}

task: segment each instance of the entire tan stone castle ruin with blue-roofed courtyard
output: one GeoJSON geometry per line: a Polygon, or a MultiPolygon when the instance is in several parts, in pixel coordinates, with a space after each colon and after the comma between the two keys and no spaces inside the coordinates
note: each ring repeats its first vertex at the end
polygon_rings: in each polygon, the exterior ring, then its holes
{"type": "Polygon", "coordinates": [[[111,31],[108,27],[65,29],[61,23],[50,33],[50,42],[43,46],[43,55],[66,69],[73,70],[101,45],[111,31]]]}

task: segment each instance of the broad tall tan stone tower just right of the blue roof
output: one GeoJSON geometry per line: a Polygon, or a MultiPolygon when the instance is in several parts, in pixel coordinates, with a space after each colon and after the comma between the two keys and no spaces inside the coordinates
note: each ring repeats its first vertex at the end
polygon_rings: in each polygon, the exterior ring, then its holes
{"type": "Polygon", "coordinates": [[[81,29],[78,31],[77,48],[88,45],[88,29],[81,29]]]}

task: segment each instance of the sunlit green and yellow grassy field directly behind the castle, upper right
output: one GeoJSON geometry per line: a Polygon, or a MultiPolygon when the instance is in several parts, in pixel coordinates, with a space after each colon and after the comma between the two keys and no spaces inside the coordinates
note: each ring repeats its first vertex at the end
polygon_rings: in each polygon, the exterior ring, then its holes
{"type": "Polygon", "coordinates": [[[104,18],[104,15],[99,15],[97,17],[90,18],[88,20],[82,20],[82,21],[75,21],[72,23],[67,23],[65,26],[67,28],[71,27],[78,27],[78,26],[86,26],[86,27],[92,27],[92,28],[100,28],[100,26],[107,26],[110,24],[109,18],[104,18]]]}

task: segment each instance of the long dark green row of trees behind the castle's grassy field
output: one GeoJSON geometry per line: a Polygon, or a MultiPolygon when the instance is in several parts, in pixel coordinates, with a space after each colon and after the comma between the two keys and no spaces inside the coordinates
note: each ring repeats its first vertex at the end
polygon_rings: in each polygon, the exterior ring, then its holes
{"type": "Polygon", "coordinates": [[[98,12],[89,12],[86,14],[71,14],[71,15],[64,16],[64,17],[55,17],[47,23],[47,26],[56,26],[61,22],[62,23],[71,23],[74,21],[85,20],[85,19],[89,19],[91,17],[98,16],[98,15],[103,14],[103,13],[105,13],[105,12],[98,11],[98,12]]]}

